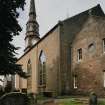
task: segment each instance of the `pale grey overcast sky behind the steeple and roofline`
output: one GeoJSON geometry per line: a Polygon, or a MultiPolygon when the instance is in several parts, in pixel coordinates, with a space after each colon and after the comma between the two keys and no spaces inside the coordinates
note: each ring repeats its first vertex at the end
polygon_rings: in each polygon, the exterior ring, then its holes
{"type": "MultiPolygon", "coordinates": [[[[30,0],[26,0],[25,11],[21,11],[19,23],[23,31],[18,37],[15,37],[13,43],[21,47],[18,51],[20,57],[25,48],[26,22],[28,21],[30,0]]],[[[105,0],[35,0],[37,21],[39,23],[39,33],[42,37],[47,33],[59,20],[64,20],[74,16],[89,8],[100,4],[105,12],[105,0]]]]}

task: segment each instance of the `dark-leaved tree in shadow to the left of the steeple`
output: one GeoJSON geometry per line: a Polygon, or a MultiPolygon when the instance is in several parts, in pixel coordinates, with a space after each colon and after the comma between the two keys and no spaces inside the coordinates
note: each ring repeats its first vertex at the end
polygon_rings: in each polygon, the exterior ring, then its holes
{"type": "Polygon", "coordinates": [[[26,77],[22,65],[16,64],[16,48],[11,42],[22,31],[17,9],[24,10],[25,0],[0,0],[0,75],[19,74],[26,77]]]}

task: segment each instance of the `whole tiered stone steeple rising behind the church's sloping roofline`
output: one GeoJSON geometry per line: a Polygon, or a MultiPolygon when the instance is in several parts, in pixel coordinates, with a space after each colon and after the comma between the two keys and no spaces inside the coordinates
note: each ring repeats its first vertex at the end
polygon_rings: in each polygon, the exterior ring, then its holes
{"type": "Polygon", "coordinates": [[[38,42],[39,37],[39,24],[36,21],[36,10],[34,0],[30,1],[29,20],[26,24],[26,37],[25,37],[25,52],[28,51],[35,43],[38,42]]]}

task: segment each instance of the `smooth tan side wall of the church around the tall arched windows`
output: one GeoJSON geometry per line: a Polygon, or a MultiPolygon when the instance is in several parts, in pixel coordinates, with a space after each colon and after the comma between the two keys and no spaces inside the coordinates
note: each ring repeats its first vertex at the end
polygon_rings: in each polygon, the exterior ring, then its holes
{"type": "MultiPolygon", "coordinates": [[[[59,93],[59,61],[60,61],[60,41],[59,27],[55,27],[51,32],[47,33],[37,45],[18,60],[18,64],[22,64],[23,70],[27,72],[27,63],[30,59],[32,65],[31,89],[28,92],[38,93],[39,86],[39,57],[43,51],[46,56],[46,87],[44,91],[59,93]]],[[[27,79],[16,77],[16,89],[27,89],[27,79]]]]}

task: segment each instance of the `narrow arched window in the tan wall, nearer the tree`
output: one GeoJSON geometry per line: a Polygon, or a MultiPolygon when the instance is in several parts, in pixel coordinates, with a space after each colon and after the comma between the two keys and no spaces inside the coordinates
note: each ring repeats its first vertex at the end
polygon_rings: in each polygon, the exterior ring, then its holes
{"type": "Polygon", "coordinates": [[[32,87],[32,68],[31,68],[30,59],[28,60],[28,63],[27,63],[27,74],[29,75],[27,79],[27,89],[29,90],[32,87]]]}

